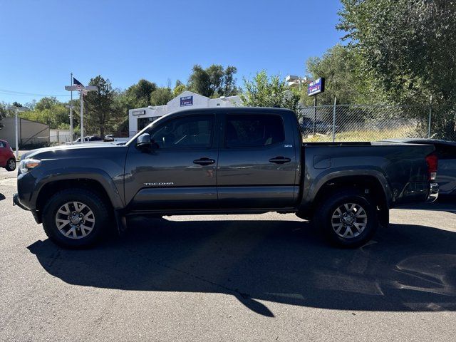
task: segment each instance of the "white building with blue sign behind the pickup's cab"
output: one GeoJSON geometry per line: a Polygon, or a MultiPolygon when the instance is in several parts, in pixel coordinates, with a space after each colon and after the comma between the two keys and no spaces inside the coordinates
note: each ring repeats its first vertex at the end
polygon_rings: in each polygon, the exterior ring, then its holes
{"type": "Polygon", "coordinates": [[[239,96],[227,96],[220,98],[207,98],[206,96],[185,90],[166,105],[149,106],[128,110],[128,127],[130,137],[133,137],[142,128],[157,120],[163,115],[177,112],[178,110],[191,108],[234,107],[242,105],[239,96]]]}

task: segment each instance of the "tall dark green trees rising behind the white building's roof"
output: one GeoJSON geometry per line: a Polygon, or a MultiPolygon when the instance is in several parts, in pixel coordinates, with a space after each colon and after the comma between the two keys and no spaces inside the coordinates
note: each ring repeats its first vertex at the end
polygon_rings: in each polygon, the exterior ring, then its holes
{"type": "Polygon", "coordinates": [[[223,66],[212,64],[209,68],[203,69],[196,64],[188,80],[187,88],[208,98],[219,96],[232,96],[238,93],[236,87],[237,68],[234,66],[223,66]]]}

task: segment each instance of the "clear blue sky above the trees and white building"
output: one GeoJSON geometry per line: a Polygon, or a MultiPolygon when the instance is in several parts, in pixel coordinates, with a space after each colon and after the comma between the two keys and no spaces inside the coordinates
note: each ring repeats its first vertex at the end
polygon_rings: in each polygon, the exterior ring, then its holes
{"type": "MultiPolygon", "coordinates": [[[[115,88],[140,78],[186,82],[195,63],[304,75],[305,61],[340,41],[337,0],[0,0],[0,101],[68,95],[100,74],[115,88]]],[[[67,100],[67,97],[58,97],[67,100]]]]}

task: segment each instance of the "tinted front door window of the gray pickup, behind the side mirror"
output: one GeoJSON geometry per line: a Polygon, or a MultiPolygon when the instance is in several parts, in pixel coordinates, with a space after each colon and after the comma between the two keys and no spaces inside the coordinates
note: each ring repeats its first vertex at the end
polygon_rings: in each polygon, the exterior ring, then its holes
{"type": "Polygon", "coordinates": [[[208,148],[212,145],[212,115],[184,116],[169,120],[150,133],[159,148],[208,148]]]}

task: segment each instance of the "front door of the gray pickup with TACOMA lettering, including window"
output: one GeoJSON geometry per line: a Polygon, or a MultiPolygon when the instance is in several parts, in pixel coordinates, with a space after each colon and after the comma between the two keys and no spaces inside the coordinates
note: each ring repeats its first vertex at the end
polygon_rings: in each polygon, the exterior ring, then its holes
{"type": "Polygon", "coordinates": [[[215,116],[182,115],[150,129],[150,152],[132,143],[125,165],[125,201],[133,210],[217,207],[215,116]]]}

